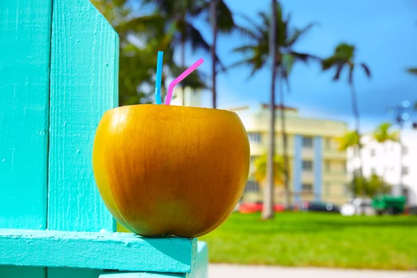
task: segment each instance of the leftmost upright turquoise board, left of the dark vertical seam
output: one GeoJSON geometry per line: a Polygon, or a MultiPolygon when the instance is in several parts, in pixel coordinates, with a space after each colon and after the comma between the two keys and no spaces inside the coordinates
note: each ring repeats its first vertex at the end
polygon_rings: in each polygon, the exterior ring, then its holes
{"type": "Polygon", "coordinates": [[[51,0],[0,0],[0,228],[45,229],[51,0]]]}

